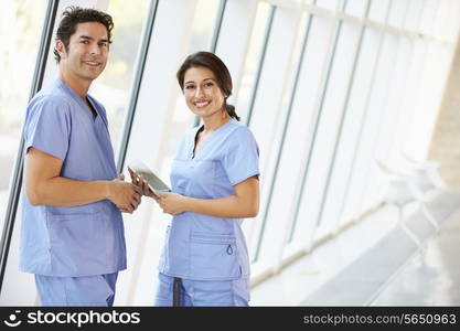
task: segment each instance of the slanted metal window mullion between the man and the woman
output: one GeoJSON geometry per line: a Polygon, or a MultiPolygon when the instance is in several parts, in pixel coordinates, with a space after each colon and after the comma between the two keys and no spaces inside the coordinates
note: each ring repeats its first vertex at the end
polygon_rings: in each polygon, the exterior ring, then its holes
{"type": "Polygon", "coordinates": [[[145,30],[142,43],[138,53],[138,61],[137,61],[138,65],[136,70],[135,82],[132,83],[132,87],[131,87],[131,93],[130,93],[131,98],[129,100],[128,114],[126,116],[127,118],[125,121],[125,129],[124,129],[122,138],[120,141],[119,153],[118,153],[118,162],[117,162],[118,173],[122,172],[125,161],[126,161],[126,153],[128,151],[129,139],[131,136],[132,124],[133,124],[135,115],[136,115],[136,107],[139,100],[140,87],[142,84],[143,73],[146,70],[147,55],[149,53],[151,36],[153,33],[153,24],[154,24],[154,18],[157,14],[158,2],[159,0],[152,0],[150,2],[149,15],[147,18],[146,25],[145,25],[146,30],[145,30]]]}

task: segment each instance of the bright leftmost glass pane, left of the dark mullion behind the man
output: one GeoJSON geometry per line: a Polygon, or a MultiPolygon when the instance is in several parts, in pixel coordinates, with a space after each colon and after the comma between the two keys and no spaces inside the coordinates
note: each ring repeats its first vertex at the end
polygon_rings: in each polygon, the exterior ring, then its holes
{"type": "Polygon", "coordinates": [[[46,0],[7,0],[0,10],[0,228],[35,68],[46,0]]]}

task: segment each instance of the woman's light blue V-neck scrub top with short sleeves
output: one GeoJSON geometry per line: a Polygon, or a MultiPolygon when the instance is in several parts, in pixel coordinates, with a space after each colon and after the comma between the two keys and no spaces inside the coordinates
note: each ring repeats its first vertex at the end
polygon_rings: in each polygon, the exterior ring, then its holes
{"type": "MultiPolygon", "coordinates": [[[[234,194],[234,185],[258,175],[258,147],[249,129],[235,119],[215,130],[193,157],[199,127],[182,140],[172,163],[172,191],[216,199],[234,194]]],[[[249,276],[243,218],[185,212],[174,215],[159,271],[195,280],[231,280],[249,276]]]]}

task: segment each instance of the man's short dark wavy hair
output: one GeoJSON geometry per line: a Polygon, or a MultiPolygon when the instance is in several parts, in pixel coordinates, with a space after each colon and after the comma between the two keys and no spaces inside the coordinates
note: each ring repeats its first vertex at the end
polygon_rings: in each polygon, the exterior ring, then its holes
{"type": "MultiPolygon", "coordinates": [[[[75,33],[76,25],[78,23],[86,22],[98,22],[106,26],[108,43],[111,43],[111,29],[114,29],[114,21],[111,17],[103,11],[89,8],[81,7],[67,7],[62,13],[63,19],[61,20],[60,26],[56,32],[56,41],[63,42],[65,50],[68,51],[68,43],[71,42],[71,35],[75,33]]],[[[57,63],[61,61],[60,53],[54,50],[54,58],[57,63]]]]}

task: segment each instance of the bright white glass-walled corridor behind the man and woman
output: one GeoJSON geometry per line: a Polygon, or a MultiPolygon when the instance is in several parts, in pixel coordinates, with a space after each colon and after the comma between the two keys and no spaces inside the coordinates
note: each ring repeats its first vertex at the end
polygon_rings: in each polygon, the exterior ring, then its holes
{"type": "MultiPolygon", "coordinates": [[[[202,125],[178,70],[200,51],[228,67],[227,102],[258,146],[249,306],[460,306],[458,0],[0,1],[0,306],[41,306],[20,271],[24,124],[75,6],[114,20],[88,93],[127,181],[141,160],[176,188],[178,146],[202,125]]],[[[153,305],[171,218],[147,196],[122,214],[114,306],[153,305]]]]}

